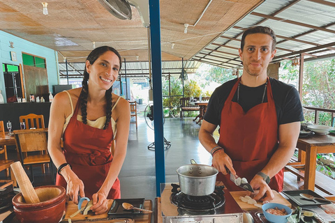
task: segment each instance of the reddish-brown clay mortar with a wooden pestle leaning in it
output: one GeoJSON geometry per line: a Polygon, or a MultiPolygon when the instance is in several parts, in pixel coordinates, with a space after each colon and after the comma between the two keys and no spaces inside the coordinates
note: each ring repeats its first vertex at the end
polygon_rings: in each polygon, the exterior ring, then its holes
{"type": "Polygon", "coordinates": [[[21,223],[58,223],[65,213],[66,191],[64,187],[47,185],[35,187],[39,203],[26,203],[22,193],[13,197],[17,220],[21,223]]]}

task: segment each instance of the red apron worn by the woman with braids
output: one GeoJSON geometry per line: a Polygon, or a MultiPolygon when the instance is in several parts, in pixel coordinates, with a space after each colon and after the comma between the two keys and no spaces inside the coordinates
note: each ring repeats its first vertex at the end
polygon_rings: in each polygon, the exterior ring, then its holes
{"type": "MultiPolygon", "coordinates": [[[[80,101],[77,101],[73,116],[64,132],[64,150],[66,162],[84,183],[85,196],[92,195],[100,190],[101,185],[110,170],[113,160],[110,146],[113,140],[111,123],[108,128],[101,130],[77,121],[80,101]]],[[[66,188],[67,183],[63,176],[57,174],[56,185],[66,188]]],[[[120,181],[115,180],[107,199],[120,199],[120,181]]]]}

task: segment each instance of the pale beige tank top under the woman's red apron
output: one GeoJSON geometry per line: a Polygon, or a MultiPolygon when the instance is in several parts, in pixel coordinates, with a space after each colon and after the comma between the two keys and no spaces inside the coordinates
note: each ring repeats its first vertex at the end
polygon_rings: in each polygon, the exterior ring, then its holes
{"type": "MultiPolygon", "coordinates": [[[[65,92],[68,93],[68,91],[65,91],[65,92]]],[[[70,122],[70,118],[73,116],[73,112],[74,112],[73,103],[72,103],[70,93],[68,93],[68,98],[70,99],[72,112],[65,119],[65,123],[64,123],[64,127],[63,127],[63,134],[64,134],[64,131],[66,130],[66,127],[68,126],[68,123],[70,122]]],[[[120,96],[119,96],[119,98],[117,98],[117,102],[119,102],[120,98],[121,98],[120,96]]],[[[114,106],[112,107],[112,111],[113,111],[114,107],[117,106],[117,102],[115,102],[114,106]]],[[[77,115],[77,121],[82,122],[82,116],[80,114],[77,115]]],[[[105,125],[105,121],[106,121],[106,116],[102,116],[100,118],[97,118],[95,121],[91,121],[91,120],[87,119],[87,125],[89,125],[91,127],[94,127],[94,128],[103,129],[103,126],[105,125]]],[[[112,130],[114,132],[114,137],[115,137],[115,134],[117,134],[117,132],[116,132],[117,131],[117,123],[114,121],[113,118],[110,118],[110,121],[111,121],[112,130]]]]}

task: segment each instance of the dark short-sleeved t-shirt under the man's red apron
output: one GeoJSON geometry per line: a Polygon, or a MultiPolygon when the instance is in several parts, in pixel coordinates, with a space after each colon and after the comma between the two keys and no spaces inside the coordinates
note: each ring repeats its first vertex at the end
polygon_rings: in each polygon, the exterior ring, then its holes
{"type": "MultiPolygon", "coordinates": [[[[204,114],[204,120],[214,125],[221,123],[221,111],[225,100],[227,100],[232,87],[237,82],[237,79],[232,79],[225,82],[211,95],[207,106],[207,112],[204,114]]],[[[293,123],[296,121],[304,121],[300,96],[293,86],[285,84],[277,79],[270,77],[272,95],[274,104],[276,105],[278,125],[293,123]]],[[[265,90],[265,84],[257,87],[248,87],[240,84],[239,88],[239,105],[247,112],[255,105],[262,102],[262,96],[265,90]]],[[[237,92],[232,98],[233,102],[237,102],[237,92]]],[[[264,102],[267,102],[267,93],[265,93],[264,102]]]]}

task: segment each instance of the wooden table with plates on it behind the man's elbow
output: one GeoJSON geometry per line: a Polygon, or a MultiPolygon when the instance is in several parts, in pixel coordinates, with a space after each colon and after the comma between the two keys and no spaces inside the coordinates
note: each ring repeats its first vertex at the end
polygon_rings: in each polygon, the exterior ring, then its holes
{"type": "Polygon", "coordinates": [[[314,190],[316,156],[318,153],[335,153],[335,136],[332,134],[315,134],[300,137],[297,141],[298,161],[305,165],[304,189],[314,190]]]}

